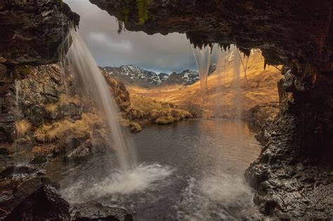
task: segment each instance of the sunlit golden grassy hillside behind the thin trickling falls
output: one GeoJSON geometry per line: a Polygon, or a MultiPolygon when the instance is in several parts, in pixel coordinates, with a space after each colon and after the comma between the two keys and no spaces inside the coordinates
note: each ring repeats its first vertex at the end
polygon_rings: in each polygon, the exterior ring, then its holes
{"type": "MultiPolygon", "coordinates": [[[[237,55],[237,54],[236,54],[237,55]]],[[[231,52],[218,64],[216,71],[208,77],[208,102],[203,105],[200,81],[190,86],[172,86],[145,90],[138,86],[129,87],[131,95],[143,95],[163,102],[171,102],[204,116],[235,116],[235,53],[231,52]],[[226,69],[224,68],[226,64],[226,69]]],[[[244,64],[246,58],[242,58],[244,64]]],[[[247,111],[255,105],[278,102],[277,82],[282,77],[276,67],[263,68],[264,60],[260,51],[252,51],[247,63],[247,81],[241,70],[242,109],[247,111]]],[[[278,67],[280,69],[280,67],[278,67]]]]}

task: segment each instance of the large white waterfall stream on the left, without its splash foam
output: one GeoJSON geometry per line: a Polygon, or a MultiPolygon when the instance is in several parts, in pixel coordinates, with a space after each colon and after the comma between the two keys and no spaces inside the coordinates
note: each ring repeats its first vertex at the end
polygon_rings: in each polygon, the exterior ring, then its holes
{"type": "Polygon", "coordinates": [[[119,167],[122,170],[126,170],[136,166],[136,154],[134,154],[133,149],[124,139],[117,117],[118,107],[110,93],[107,81],[102,72],[100,72],[95,60],[93,60],[79,32],[72,29],[69,38],[72,40],[72,44],[65,60],[70,71],[77,79],[81,92],[93,100],[100,113],[105,117],[105,123],[113,141],[110,146],[115,147],[119,167]]]}

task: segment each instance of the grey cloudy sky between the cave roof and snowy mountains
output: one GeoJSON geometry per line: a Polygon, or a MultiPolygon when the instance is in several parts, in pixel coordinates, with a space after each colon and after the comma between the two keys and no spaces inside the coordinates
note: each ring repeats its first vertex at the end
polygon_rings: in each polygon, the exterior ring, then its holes
{"type": "Polygon", "coordinates": [[[185,34],[148,35],[144,32],[117,34],[115,17],[89,0],[65,0],[81,15],[79,30],[101,67],[137,65],[155,72],[181,72],[197,69],[185,34]],[[188,62],[189,60],[189,62],[188,62]]]}

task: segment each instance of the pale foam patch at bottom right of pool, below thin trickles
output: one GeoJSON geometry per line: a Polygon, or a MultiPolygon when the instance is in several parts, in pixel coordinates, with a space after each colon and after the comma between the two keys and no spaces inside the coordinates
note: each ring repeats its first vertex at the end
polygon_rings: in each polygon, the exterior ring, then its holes
{"type": "Polygon", "coordinates": [[[251,205],[252,192],[244,180],[219,174],[190,178],[175,208],[178,220],[238,220],[251,205]]]}

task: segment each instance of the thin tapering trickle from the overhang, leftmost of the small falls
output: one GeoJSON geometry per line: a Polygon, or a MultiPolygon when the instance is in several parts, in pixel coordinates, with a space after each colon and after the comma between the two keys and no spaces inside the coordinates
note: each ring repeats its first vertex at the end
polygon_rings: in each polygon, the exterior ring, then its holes
{"type": "Polygon", "coordinates": [[[195,62],[197,64],[197,71],[199,72],[204,112],[204,105],[208,101],[207,79],[209,74],[209,66],[211,64],[211,47],[205,46],[204,48],[194,48],[192,46],[192,52],[195,57],[195,62]]]}

